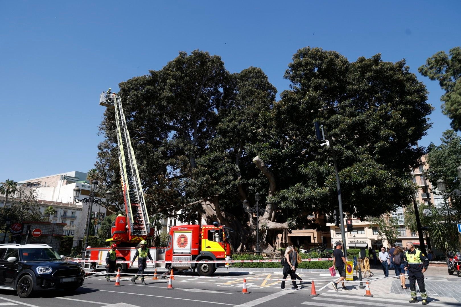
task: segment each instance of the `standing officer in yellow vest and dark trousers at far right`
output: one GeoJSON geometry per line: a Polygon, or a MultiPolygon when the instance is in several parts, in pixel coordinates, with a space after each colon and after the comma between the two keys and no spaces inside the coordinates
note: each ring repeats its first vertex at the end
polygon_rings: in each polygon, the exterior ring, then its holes
{"type": "Polygon", "coordinates": [[[411,300],[410,303],[416,303],[416,284],[415,281],[418,281],[418,287],[420,288],[421,298],[423,299],[423,305],[427,305],[427,294],[426,288],[424,287],[424,275],[426,272],[427,266],[429,266],[429,260],[427,256],[424,255],[420,250],[415,249],[412,242],[407,242],[407,256],[408,266],[405,267],[405,270],[408,270],[408,280],[410,281],[410,292],[411,300]]]}

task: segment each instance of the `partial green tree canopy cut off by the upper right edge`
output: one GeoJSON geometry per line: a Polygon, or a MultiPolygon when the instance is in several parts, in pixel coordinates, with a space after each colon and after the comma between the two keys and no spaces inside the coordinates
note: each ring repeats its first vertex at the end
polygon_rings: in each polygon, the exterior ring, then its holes
{"type": "Polygon", "coordinates": [[[437,80],[445,91],[442,112],[451,119],[455,131],[461,130],[461,47],[450,49],[449,54],[439,51],[426,60],[418,71],[421,75],[437,80]]]}

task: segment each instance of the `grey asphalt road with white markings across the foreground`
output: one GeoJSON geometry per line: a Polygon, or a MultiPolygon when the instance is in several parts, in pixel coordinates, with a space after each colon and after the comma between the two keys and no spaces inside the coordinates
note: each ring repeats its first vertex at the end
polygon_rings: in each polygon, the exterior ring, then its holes
{"type": "MultiPolygon", "coordinates": [[[[353,295],[352,288],[357,285],[350,284],[348,292],[335,292],[329,286],[333,279],[321,276],[319,273],[300,274],[306,282],[302,290],[280,290],[280,282],[269,280],[281,278],[280,274],[264,273],[240,276],[236,273],[223,276],[182,277],[175,276],[172,281],[173,290],[168,290],[168,279],[152,280],[146,278],[147,285],[142,286],[139,278],[137,284],[132,284],[130,277],[122,277],[120,287],[114,282],[107,283],[103,276],[86,278],[85,283],[72,295],[65,295],[63,291],[41,291],[34,297],[20,299],[16,292],[0,290],[0,306],[29,306],[29,307],[130,307],[130,306],[201,306],[201,307],[302,307],[314,305],[327,306],[359,306],[378,304],[380,307],[395,307],[396,305],[414,306],[408,303],[408,298],[363,297],[353,295]],[[248,294],[242,294],[243,278],[246,279],[248,294]],[[310,296],[311,282],[315,282],[318,297],[310,296]],[[321,290],[320,290],[321,289],[321,290]]],[[[115,280],[115,278],[113,278],[115,280]]],[[[460,283],[461,284],[461,283],[460,283]]],[[[286,284],[288,288],[290,284],[286,284]]],[[[461,306],[458,303],[430,301],[434,307],[461,306]]]]}

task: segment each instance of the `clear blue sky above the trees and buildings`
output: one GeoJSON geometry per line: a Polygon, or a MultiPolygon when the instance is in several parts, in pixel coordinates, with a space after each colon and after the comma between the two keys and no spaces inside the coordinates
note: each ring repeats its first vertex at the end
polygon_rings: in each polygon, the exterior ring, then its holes
{"type": "Polygon", "coordinates": [[[449,129],[443,91],[417,69],[461,45],[459,12],[459,0],[1,1],[0,181],[88,171],[103,139],[100,92],[195,49],[221,56],[231,73],[260,67],[278,93],[305,46],[349,61],[405,58],[436,108],[420,145],[438,145],[449,129]]]}

